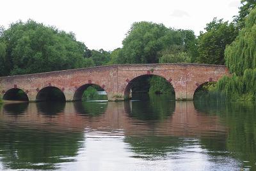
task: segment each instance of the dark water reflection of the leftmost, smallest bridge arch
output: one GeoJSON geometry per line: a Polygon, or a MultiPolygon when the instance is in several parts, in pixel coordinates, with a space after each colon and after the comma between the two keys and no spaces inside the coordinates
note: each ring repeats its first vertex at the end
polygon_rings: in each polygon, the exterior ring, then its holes
{"type": "Polygon", "coordinates": [[[28,108],[28,103],[7,103],[3,105],[4,111],[8,114],[24,114],[28,108]]]}

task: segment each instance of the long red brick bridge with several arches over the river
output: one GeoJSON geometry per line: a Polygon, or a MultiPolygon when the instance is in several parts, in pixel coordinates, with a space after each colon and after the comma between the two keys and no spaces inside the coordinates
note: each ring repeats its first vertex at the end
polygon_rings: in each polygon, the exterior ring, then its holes
{"type": "Polygon", "coordinates": [[[52,71],[28,75],[0,77],[3,99],[15,96],[17,90],[27,94],[29,101],[37,101],[47,89],[60,89],[65,100],[81,100],[83,91],[97,84],[108,93],[108,99],[124,100],[129,96],[131,82],[143,75],[158,75],[173,85],[176,100],[193,100],[196,88],[205,82],[229,75],[226,66],[209,64],[118,64],[75,70],[52,71]],[[13,94],[14,93],[14,94],[13,94]]]}

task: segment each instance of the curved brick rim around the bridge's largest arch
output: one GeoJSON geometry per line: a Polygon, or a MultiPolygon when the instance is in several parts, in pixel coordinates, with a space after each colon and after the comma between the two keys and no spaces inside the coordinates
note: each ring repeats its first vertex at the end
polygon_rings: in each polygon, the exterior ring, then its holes
{"type": "MultiPolygon", "coordinates": [[[[133,77],[131,80],[126,80],[128,82],[128,84],[126,85],[125,89],[124,89],[124,98],[129,98],[131,96],[131,90],[133,91],[134,88],[134,82],[140,80],[141,78],[145,79],[145,78],[152,78],[152,77],[157,77],[157,78],[163,78],[163,80],[166,81],[166,84],[169,85],[172,89],[173,89],[173,94],[175,97],[175,87],[172,84],[172,79],[169,78],[169,80],[167,80],[165,77],[163,77],[162,75],[157,75],[157,74],[143,74],[143,75],[138,75],[136,77],[133,77]]],[[[135,85],[136,86],[136,85],[135,85]]],[[[149,88],[150,87],[146,87],[149,88]]],[[[157,92],[156,92],[157,93],[157,92]]]]}

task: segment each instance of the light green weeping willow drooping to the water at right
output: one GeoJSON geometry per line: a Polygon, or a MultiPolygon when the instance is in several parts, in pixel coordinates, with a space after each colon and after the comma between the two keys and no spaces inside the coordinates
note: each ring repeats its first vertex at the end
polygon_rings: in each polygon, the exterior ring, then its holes
{"type": "Polygon", "coordinates": [[[256,8],[236,40],[225,50],[225,61],[232,77],[221,78],[204,96],[205,101],[256,101],[256,8]]]}

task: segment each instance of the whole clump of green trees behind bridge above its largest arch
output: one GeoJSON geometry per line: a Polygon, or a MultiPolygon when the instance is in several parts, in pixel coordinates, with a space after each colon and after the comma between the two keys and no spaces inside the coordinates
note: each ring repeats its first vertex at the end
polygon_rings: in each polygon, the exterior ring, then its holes
{"type": "MultiPolygon", "coordinates": [[[[179,46],[179,52],[194,55],[195,34],[189,30],[175,30],[163,24],[135,22],[123,40],[123,47],[114,50],[113,63],[159,63],[161,56],[172,52],[179,46]],[[194,49],[193,49],[194,48],[194,49]]],[[[190,60],[189,60],[190,62],[190,60]]]]}

